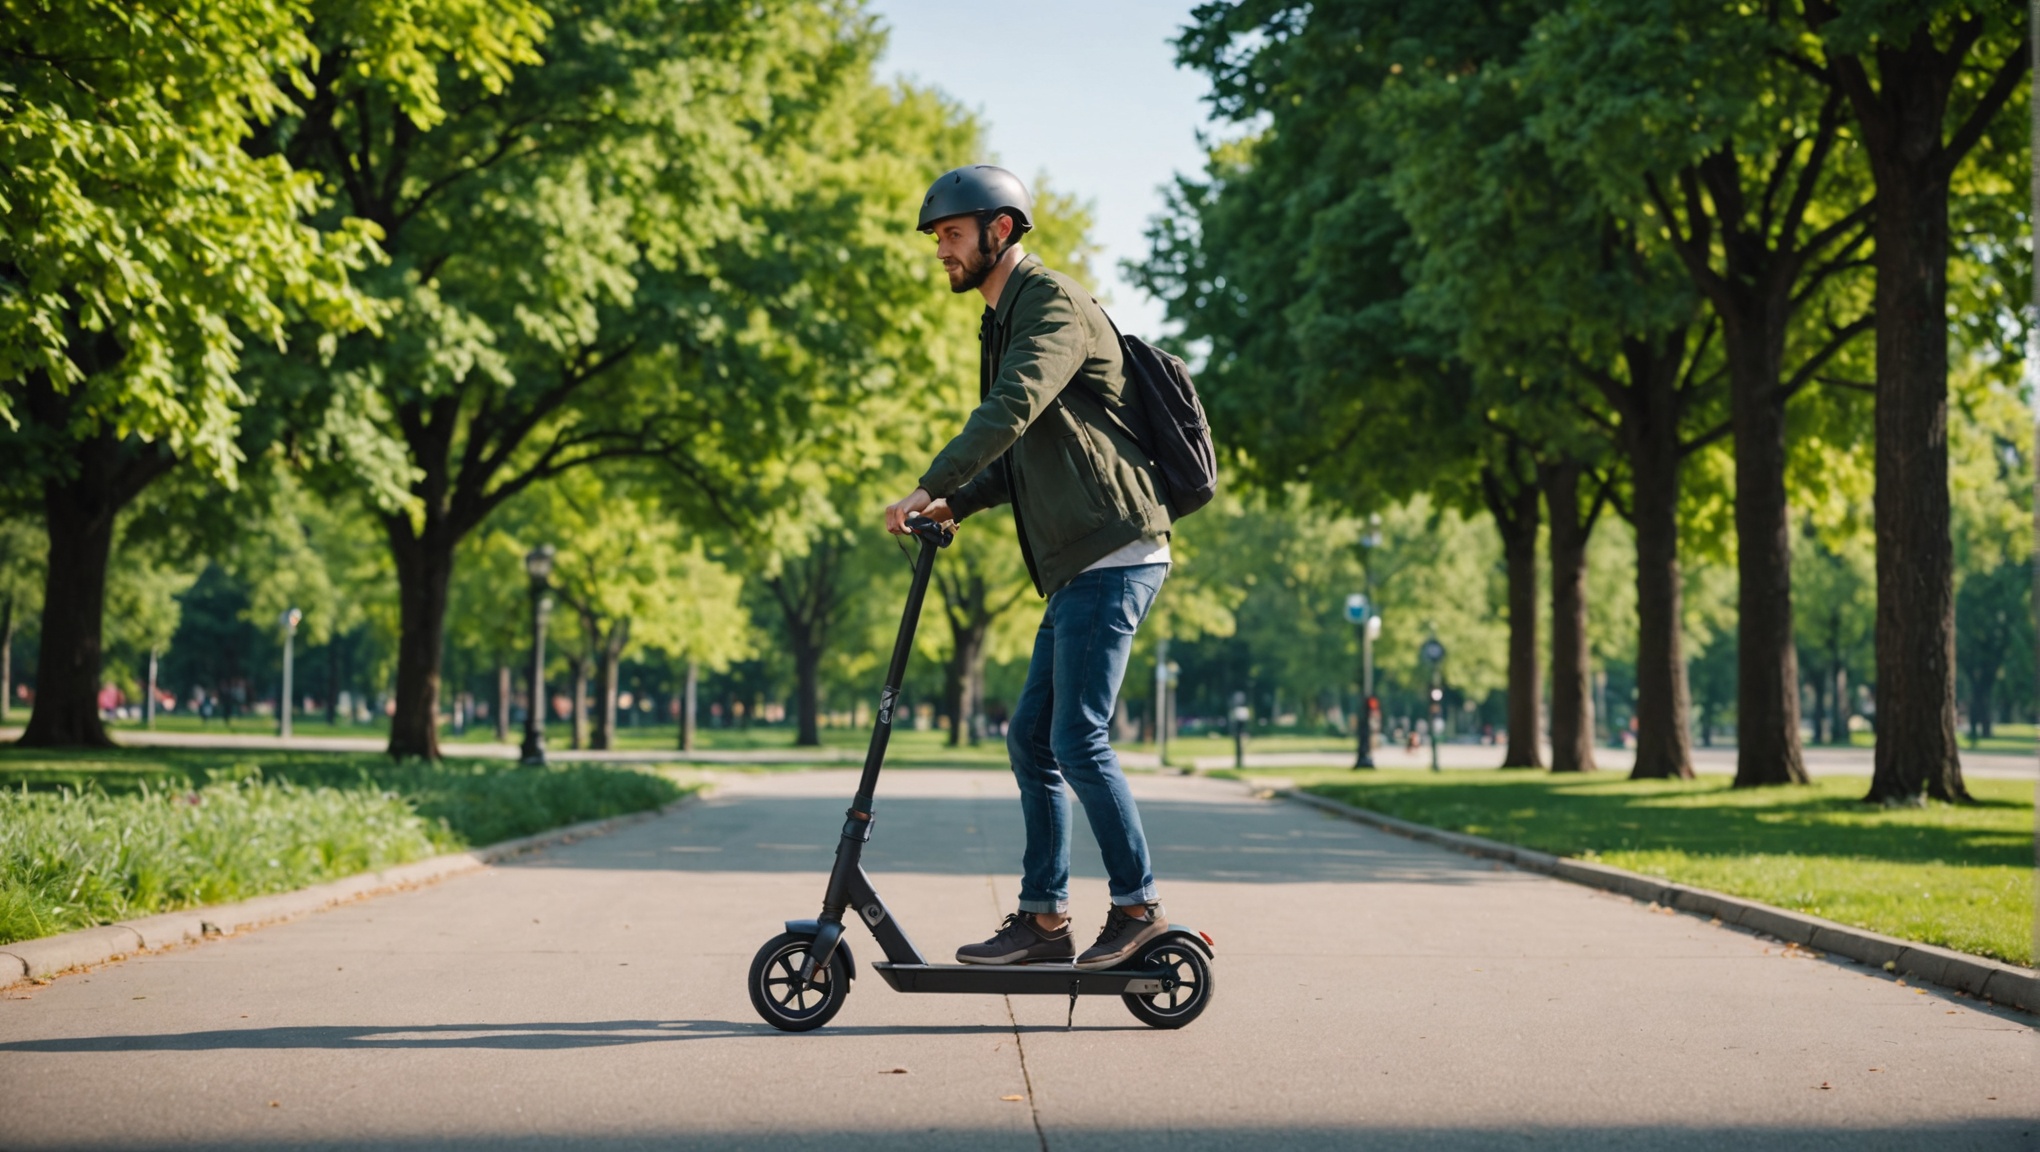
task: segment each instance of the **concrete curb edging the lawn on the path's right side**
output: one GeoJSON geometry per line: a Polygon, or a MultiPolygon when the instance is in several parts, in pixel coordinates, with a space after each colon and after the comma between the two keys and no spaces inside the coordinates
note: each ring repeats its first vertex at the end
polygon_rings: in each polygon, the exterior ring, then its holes
{"type": "Polygon", "coordinates": [[[1999,960],[1987,960],[1983,956],[1971,956],[1950,948],[1936,948],[1932,944],[1916,944],[1895,936],[1881,936],[1865,928],[1850,928],[1846,924],[1836,924],[1803,911],[1787,911],[1754,899],[1661,881],[1626,869],[1575,860],[1571,856],[1552,856],[1550,852],[1518,848],[1516,844],[1487,840],[1485,836],[1446,832],[1428,824],[1412,824],[1410,820],[1395,820],[1393,816],[1381,816],[1379,811],[1353,807],[1350,803],[1338,803],[1336,799],[1326,799],[1308,791],[1277,789],[1277,795],[1297,803],[1308,803],[1310,807],[1320,807],[1334,816],[1344,816],[1346,820],[1355,820],[1359,824],[1371,824],[1383,832],[1408,836],[1410,840],[1422,840],[1426,844],[1436,844],[1469,856],[1501,860],[1528,873],[1544,873],[1577,885],[1622,893],[1632,899],[1675,907],[1693,915],[1705,915],[1720,920],[1722,924],[1734,924],[1752,932],[1763,932],[1765,936],[1777,936],[1779,940],[1803,944],[1816,952],[1848,956],[1850,960],[1860,960],[1873,968],[1897,973],[1899,977],[1916,983],[1940,985],[1944,989],[1969,993],[1977,999],[2040,1013],[2040,973],[2032,968],[2020,968],[2016,964],[2003,964],[1999,960]]]}

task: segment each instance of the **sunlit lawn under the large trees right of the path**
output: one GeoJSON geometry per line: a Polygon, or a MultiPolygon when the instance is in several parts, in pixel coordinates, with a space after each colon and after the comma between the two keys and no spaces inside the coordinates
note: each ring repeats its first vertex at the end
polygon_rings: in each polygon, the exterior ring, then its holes
{"type": "Polygon", "coordinates": [[[1416,824],[1616,865],[1960,952],[2034,962],[2034,785],[1977,803],[1873,807],[1865,779],[1736,791],[1728,779],[1550,773],[1293,773],[1416,824]]]}

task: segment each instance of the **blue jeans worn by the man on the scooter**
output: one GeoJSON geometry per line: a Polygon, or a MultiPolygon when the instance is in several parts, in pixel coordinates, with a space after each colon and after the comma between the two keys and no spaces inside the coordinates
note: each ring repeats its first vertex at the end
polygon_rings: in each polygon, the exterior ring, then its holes
{"type": "Polygon", "coordinates": [[[1026,820],[1020,911],[1069,911],[1069,793],[1063,781],[1083,801],[1106,858],[1112,903],[1155,901],[1146,834],[1112,752],[1110,724],[1134,630],[1167,575],[1169,565],[1093,569],[1049,597],[1026,687],[1006,728],[1026,820]]]}

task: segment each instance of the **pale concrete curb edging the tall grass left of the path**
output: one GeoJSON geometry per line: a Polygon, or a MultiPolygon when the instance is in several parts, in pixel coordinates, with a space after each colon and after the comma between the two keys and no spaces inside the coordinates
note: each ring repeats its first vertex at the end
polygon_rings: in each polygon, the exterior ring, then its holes
{"type": "Polygon", "coordinates": [[[339,881],[312,885],[308,889],[259,895],[239,903],[216,903],[212,907],[188,907],[184,911],[143,915],[141,920],[122,920],[102,928],[63,932],[61,936],[0,944],[0,989],[22,981],[57,977],[71,968],[124,960],[141,952],[171,948],[175,944],[196,944],[214,936],[249,932],[253,928],[296,920],[300,915],[310,915],[314,911],[324,911],[328,907],[373,895],[432,885],[449,877],[479,871],[498,860],[522,856],[524,852],[573,844],[575,840],[583,840],[588,836],[606,836],[618,828],[643,824],[694,803],[702,797],[702,791],[687,793],[663,807],[610,816],[606,820],[585,820],[551,832],[539,832],[537,836],[520,836],[516,840],[504,840],[500,844],[467,852],[449,852],[428,860],[412,860],[410,865],[398,865],[379,873],[359,873],[339,881]]]}

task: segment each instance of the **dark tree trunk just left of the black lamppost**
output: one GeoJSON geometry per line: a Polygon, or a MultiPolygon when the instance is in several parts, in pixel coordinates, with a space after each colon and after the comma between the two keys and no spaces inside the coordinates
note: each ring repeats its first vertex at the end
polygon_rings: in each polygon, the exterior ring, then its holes
{"type": "Polygon", "coordinates": [[[457,536],[432,514],[426,514],[422,534],[412,532],[408,516],[388,516],[384,524],[396,559],[400,622],[390,754],[437,761],[439,654],[447,640],[447,589],[453,585],[457,536]]]}

